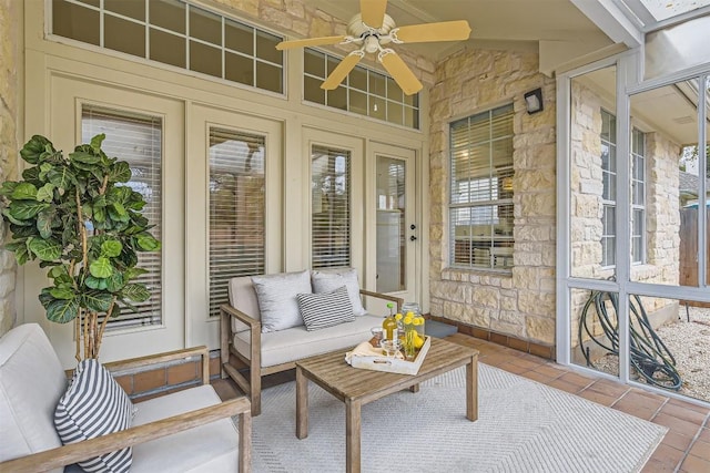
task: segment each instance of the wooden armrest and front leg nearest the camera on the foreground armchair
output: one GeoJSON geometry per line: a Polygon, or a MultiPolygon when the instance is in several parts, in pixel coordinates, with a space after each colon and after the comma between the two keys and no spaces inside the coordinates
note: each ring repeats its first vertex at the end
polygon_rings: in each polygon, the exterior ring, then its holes
{"type": "Polygon", "coordinates": [[[161,439],[220,419],[239,415],[240,428],[240,472],[251,469],[252,417],[251,403],[246,398],[232,399],[220,404],[173,415],[121,432],[59,446],[0,463],[0,471],[38,472],[70,465],[104,453],[161,439]]]}

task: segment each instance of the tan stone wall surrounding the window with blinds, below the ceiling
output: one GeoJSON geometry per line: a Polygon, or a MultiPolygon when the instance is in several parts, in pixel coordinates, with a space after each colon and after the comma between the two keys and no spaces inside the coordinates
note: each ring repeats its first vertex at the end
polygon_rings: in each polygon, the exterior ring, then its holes
{"type": "Polygon", "coordinates": [[[490,332],[555,343],[555,81],[531,52],[465,50],[442,61],[430,92],[430,313],[490,332]],[[542,88],[529,115],[524,93],[542,88]],[[515,247],[511,274],[448,265],[448,125],[513,103],[515,247]]]}

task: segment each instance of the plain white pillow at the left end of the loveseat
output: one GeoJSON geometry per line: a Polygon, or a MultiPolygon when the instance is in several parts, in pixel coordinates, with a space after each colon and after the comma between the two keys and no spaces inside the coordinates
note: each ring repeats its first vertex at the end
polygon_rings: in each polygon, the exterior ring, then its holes
{"type": "Polygon", "coordinates": [[[303,325],[296,296],[313,292],[307,270],[253,276],[252,284],[262,315],[262,333],[303,325]]]}

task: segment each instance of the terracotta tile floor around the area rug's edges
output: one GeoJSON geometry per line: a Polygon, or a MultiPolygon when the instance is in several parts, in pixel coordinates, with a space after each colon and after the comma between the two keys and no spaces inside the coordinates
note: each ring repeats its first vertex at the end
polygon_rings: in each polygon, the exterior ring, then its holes
{"type": "MultiPolygon", "coordinates": [[[[636,415],[669,431],[642,473],[710,473],[710,409],[610,381],[581,376],[550,360],[485,340],[455,333],[449,341],[473,347],[479,361],[636,415]]],[[[264,385],[294,379],[293,372],[273,374],[264,385]]],[[[213,383],[223,399],[237,395],[230,380],[213,383]]]]}

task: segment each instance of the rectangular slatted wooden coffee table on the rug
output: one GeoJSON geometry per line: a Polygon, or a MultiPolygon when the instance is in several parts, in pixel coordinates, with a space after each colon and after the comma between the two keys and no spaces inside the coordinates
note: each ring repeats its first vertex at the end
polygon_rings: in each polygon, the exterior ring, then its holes
{"type": "MultiPolygon", "coordinates": [[[[432,339],[417,374],[396,374],[353,368],[344,352],[296,361],[296,436],[308,436],[308,380],[345,403],[345,462],[348,473],[361,467],[361,409],[363,404],[403,389],[416,391],[422,381],[466,366],[466,418],[478,419],[478,351],[432,339]]],[[[413,394],[415,395],[415,394],[413,394]]],[[[419,394],[416,394],[419,395],[419,394]]]]}

